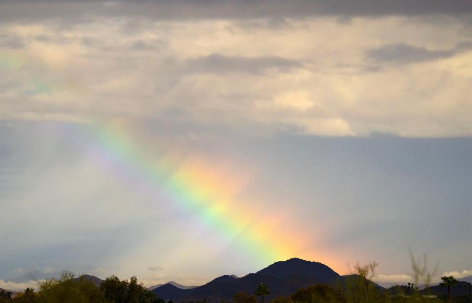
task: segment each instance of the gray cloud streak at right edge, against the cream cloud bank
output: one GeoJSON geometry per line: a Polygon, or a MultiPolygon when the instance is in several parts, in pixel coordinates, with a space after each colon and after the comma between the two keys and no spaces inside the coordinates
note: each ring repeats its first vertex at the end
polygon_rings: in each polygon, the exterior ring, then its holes
{"type": "Polygon", "coordinates": [[[378,62],[414,63],[451,57],[468,51],[471,48],[471,41],[463,42],[452,49],[441,51],[429,50],[405,43],[396,43],[371,49],[367,52],[367,57],[378,62]]]}

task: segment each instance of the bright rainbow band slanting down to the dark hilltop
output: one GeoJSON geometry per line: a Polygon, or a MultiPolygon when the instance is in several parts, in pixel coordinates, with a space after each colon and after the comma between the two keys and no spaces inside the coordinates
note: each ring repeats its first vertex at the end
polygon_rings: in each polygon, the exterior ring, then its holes
{"type": "Polygon", "coordinates": [[[156,200],[164,195],[173,207],[234,243],[248,258],[269,264],[300,256],[304,235],[289,234],[283,218],[260,216],[249,206],[257,203],[239,203],[234,198],[238,182],[215,173],[205,161],[172,157],[156,161],[120,122],[88,127],[87,133],[94,140],[94,161],[127,184],[146,189],[156,200]]]}

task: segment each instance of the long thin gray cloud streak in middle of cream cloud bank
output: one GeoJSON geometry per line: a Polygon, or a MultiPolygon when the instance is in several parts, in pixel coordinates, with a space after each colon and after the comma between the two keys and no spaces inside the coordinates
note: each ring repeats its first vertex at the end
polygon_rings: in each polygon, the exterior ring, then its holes
{"type": "Polygon", "coordinates": [[[187,70],[195,72],[207,72],[225,74],[230,72],[261,74],[268,69],[276,69],[279,72],[289,72],[296,68],[302,68],[303,64],[281,57],[243,57],[212,54],[185,62],[187,70]]]}

